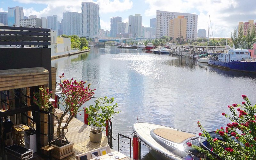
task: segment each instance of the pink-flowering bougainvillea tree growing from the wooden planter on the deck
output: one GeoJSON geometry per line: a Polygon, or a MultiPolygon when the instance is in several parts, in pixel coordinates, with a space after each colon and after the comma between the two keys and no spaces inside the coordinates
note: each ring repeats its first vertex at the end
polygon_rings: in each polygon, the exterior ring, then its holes
{"type": "Polygon", "coordinates": [[[60,89],[61,89],[61,98],[62,102],[59,102],[63,106],[64,109],[62,109],[63,114],[58,117],[54,114],[55,108],[53,107],[53,103],[49,101],[49,99],[52,96],[52,91],[49,92],[49,88],[39,88],[39,93],[34,93],[34,103],[38,105],[41,109],[50,112],[58,121],[58,127],[57,127],[57,139],[54,140],[54,142],[58,141],[59,146],[62,144],[62,139],[66,139],[64,130],[68,127],[68,124],[71,122],[71,120],[74,118],[74,116],[79,113],[80,111],[84,110],[84,108],[81,108],[81,106],[88,100],[91,99],[91,97],[94,94],[95,89],[90,89],[91,84],[87,84],[85,86],[86,82],[83,81],[76,81],[73,80],[73,78],[69,80],[62,80],[64,77],[64,73],[62,76],[60,76],[60,89]],[[51,110],[51,108],[53,108],[51,110]],[[69,115],[68,115],[69,114],[69,115]],[[68,115],[68,116],[66,116],[68,115]],[[61,123],[63,122],[63,118],[66,116],[65,125],[61,128],[61,123]]]}

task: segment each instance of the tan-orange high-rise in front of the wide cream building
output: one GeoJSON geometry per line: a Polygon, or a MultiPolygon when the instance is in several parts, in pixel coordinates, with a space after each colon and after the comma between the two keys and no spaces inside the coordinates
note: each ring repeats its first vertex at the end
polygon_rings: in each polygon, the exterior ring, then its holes
{"type": "Polygon", "coordinates": [[[170,20],[168,36],[172,37],[173,41],[180,43],[182,39],[186,38],[186,32],[187,19],[185,19],[185,16],[177,16],[177,18],[170,20]],[[177,38],[180,38],[180,40],[177,41],[177,38]]]}

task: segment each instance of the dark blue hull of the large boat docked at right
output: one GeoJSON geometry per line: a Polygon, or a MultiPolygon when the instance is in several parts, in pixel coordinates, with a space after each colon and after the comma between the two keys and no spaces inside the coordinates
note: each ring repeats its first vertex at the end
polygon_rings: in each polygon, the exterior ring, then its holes
{"type": "Polygon", "coordinates": [[[221,62],[217,60],[209,60],[208,65],[216,66],[224,69],[232,69],[237,71],[256,73],[256,62],[233,61],[228,63],[228,62],[221,62]]]}

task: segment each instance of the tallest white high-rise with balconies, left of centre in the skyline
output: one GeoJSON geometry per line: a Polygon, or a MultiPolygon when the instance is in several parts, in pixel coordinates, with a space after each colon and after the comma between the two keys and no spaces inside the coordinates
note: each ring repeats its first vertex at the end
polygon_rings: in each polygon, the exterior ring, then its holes
{"type": "Polygon", "coordinates": [[[82,2],[82,36],[95,37],[99,31],[99,5],[92,2],[82,2]]]}

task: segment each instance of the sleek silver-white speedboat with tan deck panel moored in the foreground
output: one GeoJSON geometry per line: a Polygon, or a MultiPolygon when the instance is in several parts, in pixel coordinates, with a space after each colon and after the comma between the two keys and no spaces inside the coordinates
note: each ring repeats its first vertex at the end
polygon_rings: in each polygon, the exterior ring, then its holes
{"type": "MultiPolygon", "coordinates": [[[[202,146],[214,154],[205,137],[195,133],[181,131],[175,128],[150,123],[135,123],[132,126],[140,140],[148,146],[149,152],[156,159],[185,159],[188,152],[192,152],[194,160],[204,158],[204,153],[188,147],[187,143],[202,146]]],[[[212,138],[219,138],[216,133],[209,132],[212,138]],[[216,137],[215,137],[216,136],[216,137]]]]}

